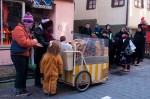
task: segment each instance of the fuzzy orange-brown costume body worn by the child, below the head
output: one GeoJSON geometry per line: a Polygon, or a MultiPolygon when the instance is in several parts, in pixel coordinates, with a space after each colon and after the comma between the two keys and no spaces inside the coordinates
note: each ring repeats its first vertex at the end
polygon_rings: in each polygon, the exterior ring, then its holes
{"type": "Polygon", "coordinates": [[[41,61],[40,72],[44,74],[43,91],[47,94],[56,94],[58,75],[62,74],[62,59],[60,55],[46,53],[41,61]]]}

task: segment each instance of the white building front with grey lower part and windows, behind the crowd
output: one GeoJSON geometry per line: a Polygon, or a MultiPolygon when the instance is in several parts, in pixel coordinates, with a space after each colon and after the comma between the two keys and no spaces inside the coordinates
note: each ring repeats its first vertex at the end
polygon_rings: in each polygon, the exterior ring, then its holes
{"type": "Polygon", "coordinates": [[[110,24],[113,32],[121,27],[129,26],[135,29],[145,17],[150,23],[150,0],[75,0],[74,30],[90,23],[92,29],[95,23],[102,27],[110,24]]]}

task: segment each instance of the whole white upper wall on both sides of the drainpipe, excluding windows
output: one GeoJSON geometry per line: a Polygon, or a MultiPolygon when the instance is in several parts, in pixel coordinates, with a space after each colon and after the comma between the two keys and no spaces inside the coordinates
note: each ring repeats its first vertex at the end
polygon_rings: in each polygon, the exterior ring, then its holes
{"type": "MultiPolygon", "coordinates": [[[[86,10],[87,0],[75,0],[75,20],[97,19],[100,25],[121,25],[126,24],[127,0],[123,7],[111,7],[112,0],[97,0],[95,10],[86,10]]],[[[141,17],[145,17],[150,23],[150,11],[147,10],[147,0],[144,1],[144,8],[136,8],[134,0],[128,0],[128,26],[136,28],[140,23],[141,17]]]]}

